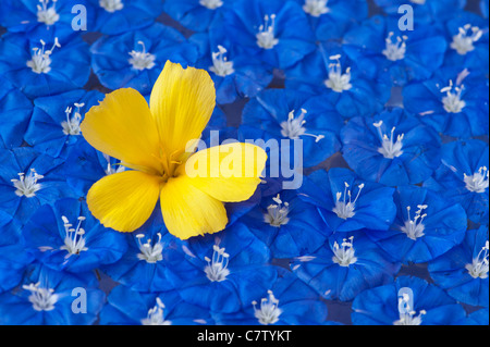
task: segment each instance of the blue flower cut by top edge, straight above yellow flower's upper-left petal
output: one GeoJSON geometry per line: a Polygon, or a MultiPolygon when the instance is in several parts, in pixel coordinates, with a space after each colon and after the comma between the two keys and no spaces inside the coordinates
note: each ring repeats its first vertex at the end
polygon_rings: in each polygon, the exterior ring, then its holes
{"type": "Polygon", "coordinates": [[[160,0],[86,0],[93,8],[88,29],[119,35],[154,23],[162,13],[160,0]]]}

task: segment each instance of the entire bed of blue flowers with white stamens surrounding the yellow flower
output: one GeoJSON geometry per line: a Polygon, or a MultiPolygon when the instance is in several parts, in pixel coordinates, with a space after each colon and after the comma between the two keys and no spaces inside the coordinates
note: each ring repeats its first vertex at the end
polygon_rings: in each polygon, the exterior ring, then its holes
{"type": "Polygon", "coordinates": [[[488,324],[488,1],[3,0],[0,324],[488,324]],[[168,60],[215,82],[206,141],[274,139],[302,185],[185,241],[103,227],[124,168],[81,122],[168,60]]]}

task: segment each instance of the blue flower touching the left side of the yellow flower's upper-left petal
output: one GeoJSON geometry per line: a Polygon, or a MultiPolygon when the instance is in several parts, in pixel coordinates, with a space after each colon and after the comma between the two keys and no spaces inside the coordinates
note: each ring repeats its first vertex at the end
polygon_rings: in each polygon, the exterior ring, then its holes
{"type": "Polygon", "coordinates": [[[25,141],[39,152],[65,158],[69,148],[82,137],[79,124],[85,112],[102,100],[101,92],[83,89],[35,99],[25,141]]]}

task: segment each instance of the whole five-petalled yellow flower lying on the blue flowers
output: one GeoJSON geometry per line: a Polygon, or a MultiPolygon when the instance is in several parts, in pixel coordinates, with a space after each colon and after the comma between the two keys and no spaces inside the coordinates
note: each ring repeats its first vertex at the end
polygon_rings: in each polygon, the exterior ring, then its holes
{"type": "Polygon", "coordinates": [[[131,88],[115,90],[93,107],[81,125],[84,137],[132,170],[91,186],[91,213],[107,227],[133,232],[160,199],[171,234],[186,239],[222,231],[228,223],[223,202],[244,201],[254,194],[267,154],[240,142],[186,151],[200,138],[215,104],[215,85],[206,71],[167,62],[149,107],[131,88]]]}

